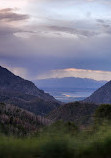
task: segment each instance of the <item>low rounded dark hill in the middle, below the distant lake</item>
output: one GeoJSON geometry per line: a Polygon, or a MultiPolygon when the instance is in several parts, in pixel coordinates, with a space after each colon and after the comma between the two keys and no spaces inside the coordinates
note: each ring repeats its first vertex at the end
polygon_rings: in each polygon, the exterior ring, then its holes
{"type": "Polygon", "coordinates": [[[52,111],[48,118],[52,121],[72,121],[77,125],[88,125],[93,121],[93,114],[98,105],[91,103],[68,103],[52,111]]]}

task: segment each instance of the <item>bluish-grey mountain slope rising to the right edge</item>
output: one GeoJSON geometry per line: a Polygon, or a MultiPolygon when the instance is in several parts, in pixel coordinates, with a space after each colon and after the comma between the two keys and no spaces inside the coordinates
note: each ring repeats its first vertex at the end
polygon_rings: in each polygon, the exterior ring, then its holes
{"type": "Polygon", "coordinates": [[[90,97],[86,98],[84,102],[89,103],[110,103],[111,104],[111,81],[96,90],[90,97]]]}

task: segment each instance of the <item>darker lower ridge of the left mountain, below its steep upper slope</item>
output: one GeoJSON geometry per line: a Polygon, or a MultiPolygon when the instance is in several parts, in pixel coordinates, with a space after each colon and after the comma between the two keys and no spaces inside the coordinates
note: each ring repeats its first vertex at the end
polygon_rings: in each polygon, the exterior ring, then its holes
{"type": "Polygon", "coordinates": [[[14,104],[37,115],[45,115],[59,106],[53,100],[46,101],[37,96],[23,93],[0,91],[0,102],[14,104]]]}

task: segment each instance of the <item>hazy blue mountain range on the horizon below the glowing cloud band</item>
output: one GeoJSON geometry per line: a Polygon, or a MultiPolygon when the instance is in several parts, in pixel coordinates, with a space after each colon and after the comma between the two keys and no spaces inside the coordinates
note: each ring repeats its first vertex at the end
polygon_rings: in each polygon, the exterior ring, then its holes
{"type": "Polygon", "coordinates": [[[99,88],[106,83],[106,81],[96,81],[88,78],[52,78],[34,81],[40,88],[99,88]]]}

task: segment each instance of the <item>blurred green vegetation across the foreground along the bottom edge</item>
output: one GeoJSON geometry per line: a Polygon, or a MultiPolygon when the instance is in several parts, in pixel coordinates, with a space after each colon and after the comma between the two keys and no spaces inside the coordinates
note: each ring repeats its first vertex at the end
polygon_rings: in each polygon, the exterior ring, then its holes
{"type": "MultiPolygon", "coordinates": [[[[110,107],[101,105],[95,117],[105,116],[109,119],[106,111],[110,107]],[[104,111],[101,113],[100,109],[104,111]]],[[[91,126],[81,129],[73,122],[58,121],[30,137],[1,134],[0,158],[110,158],[111,125],[109,122],[96,125],[98,128],[91,126]]]]}

